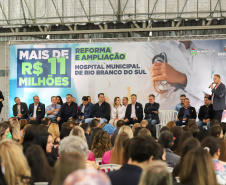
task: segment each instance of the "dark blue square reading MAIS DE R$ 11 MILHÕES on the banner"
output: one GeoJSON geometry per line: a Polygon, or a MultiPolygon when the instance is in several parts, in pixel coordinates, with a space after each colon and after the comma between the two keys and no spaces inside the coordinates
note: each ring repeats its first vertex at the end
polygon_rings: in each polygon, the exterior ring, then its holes
{"type": "Polygon", "coordinates": [[[71,87],[71,48],[18,49],[17,87],[71,87]]]}

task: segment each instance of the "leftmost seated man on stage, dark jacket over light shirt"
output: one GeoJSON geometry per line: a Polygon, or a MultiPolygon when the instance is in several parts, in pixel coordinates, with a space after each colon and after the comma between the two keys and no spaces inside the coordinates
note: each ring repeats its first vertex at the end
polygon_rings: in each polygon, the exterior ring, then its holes
{"type": "Polygon", "coordinates": [[[14,98],[15,105],[13,105],[13,115],[18,117],[18,120],[20,119],[28,119],[28,109],[27,104],[20,101],[20,98],[15,97],[14,98]]]}

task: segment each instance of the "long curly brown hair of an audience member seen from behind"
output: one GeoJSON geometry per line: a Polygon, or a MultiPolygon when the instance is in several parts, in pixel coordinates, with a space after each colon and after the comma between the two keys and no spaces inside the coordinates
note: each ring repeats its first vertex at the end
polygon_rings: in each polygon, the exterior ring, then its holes
{"type": "Polygon", "coordinates": [[[102,158],[104,153],[111,150],[111,139],[108,132],[99,130],[94,136],[91,149],[95,158],[102,158]]]}

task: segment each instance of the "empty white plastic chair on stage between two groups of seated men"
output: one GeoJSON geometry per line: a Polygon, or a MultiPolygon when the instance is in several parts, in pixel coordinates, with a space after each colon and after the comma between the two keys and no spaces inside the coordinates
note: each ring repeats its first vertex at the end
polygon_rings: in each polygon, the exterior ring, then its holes
{"type": "Polygon", "coordinates": [[[159,136],[160,133],[160,129],[164,126],[166,126],[166,124],[169,121],[175,121],[175,116],[177,118],[178,112],[175,110],[160,110],[159,111],[159,120],[160,123],[158,125],[156,125],[156,135],[157,138],[159,136]]]}

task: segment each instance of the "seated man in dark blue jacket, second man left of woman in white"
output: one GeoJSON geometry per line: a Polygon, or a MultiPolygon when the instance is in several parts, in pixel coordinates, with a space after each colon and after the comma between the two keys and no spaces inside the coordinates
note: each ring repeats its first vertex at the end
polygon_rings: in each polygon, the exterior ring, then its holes
{"type": "Polygon", "coordinates": [[[82,123],[84,123],[86,118],[90,118],[91,113],[92,113],[92,104],[88,103],[87,96],[83,96],[82,104],[79,106],[78,109],[78,119],[76,120],[76,122],[81,121],[82,123]]]}

